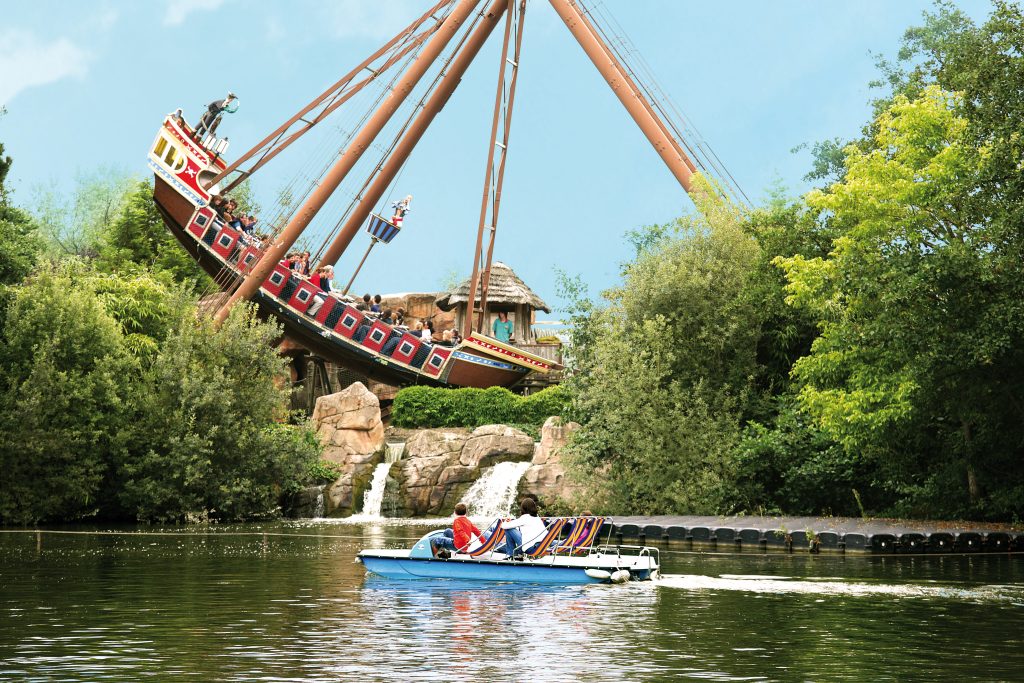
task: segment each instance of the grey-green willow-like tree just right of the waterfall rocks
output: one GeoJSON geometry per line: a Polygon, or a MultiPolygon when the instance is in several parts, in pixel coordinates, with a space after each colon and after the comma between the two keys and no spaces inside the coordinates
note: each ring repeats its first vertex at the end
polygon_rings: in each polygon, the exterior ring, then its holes
{"type": "Polygon", "coordinates": [[[755,373],[759,314],[744,292],[758,247],[730,207],[701,208],[634,240],[623,286],[573,338],[583,429],[572,451],[609,511],[713,513],[732,498],[755,373]]]}

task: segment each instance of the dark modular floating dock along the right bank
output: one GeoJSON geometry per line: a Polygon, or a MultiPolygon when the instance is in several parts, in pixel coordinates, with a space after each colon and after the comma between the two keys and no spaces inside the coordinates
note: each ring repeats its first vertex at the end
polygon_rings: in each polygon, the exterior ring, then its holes
{"type": "Polygon", "coordinates": [[[614,543],[857,554],[1024,552],[1024,526],[856,517],[615,517],[614,543]]]}

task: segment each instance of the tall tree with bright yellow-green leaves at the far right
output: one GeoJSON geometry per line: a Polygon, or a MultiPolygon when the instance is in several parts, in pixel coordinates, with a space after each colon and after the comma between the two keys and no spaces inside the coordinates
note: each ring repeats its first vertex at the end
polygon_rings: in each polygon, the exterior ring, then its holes
{"type": "Polygon", "coordinates": [[[790,300],[820,319],[794,373],[803,408],[884,469],[899,510],[1016,514],[1020,265],[1002,272],[1001,232],[975,213],[990,150],[959,109],[934,85],[896,95],[872,148],[848,147],[844,180],[808,197],[843,233],[826,258],[781,261],[790,300]]]}

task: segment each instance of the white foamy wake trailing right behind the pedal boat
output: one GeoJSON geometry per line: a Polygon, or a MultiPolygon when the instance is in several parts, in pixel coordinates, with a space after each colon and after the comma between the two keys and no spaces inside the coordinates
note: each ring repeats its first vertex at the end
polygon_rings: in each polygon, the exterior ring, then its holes
{"type": "Polygon", "coordinates": [[[759,574],[663,574],[657,585],[684,591],[802,593],[825,596],[887,595],[894,598],[944,598],[1012,602],[1024,606],[1024,585],[950,586],[942,584],[874,584],[834,578],[809,579],[759,574]]]}

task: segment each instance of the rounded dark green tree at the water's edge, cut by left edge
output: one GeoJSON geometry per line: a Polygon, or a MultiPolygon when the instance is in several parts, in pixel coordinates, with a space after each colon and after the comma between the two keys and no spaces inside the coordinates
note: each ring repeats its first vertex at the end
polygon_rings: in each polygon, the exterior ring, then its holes
{"type": "Polygon", "coordinates": [[[118,323],[53,266],[13,290],[2,332],[0,519],[92,514],[133,375],[118,323]]]}

